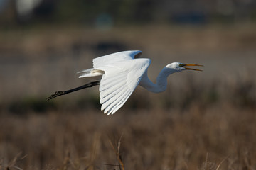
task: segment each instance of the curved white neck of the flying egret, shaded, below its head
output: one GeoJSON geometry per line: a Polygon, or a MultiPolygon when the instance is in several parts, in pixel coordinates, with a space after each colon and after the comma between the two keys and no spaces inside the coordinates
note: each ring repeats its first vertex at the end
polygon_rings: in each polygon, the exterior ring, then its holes
{"type": "Polygon", "coordinates": [[[158,77],[156,78],[156,84],[154,84],[152,81],[149,80],[149,77],[147,76],[147,72],[145,72],[142,77],[142,80],[139,82],[139,85],[143,86],[148,91],[151,91],[154,93],[160,93],[166,90],[167,77],[170,74],[173,74],[174,72],[178,72],[178,71],[176,69],[170,69],[170,68],[164,67],[164,69],[161,70],[158,77]]]}

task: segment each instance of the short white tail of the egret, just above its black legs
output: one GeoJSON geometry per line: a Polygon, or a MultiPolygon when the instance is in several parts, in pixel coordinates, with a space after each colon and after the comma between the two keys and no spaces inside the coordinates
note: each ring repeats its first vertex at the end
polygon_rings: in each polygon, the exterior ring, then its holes
{"type": "Polygon", "coordinates": [[[79,78],[87,78],[87,79],[100,79],[104,73],[105,72],[100,69],[93,69],[93,68],[85,69],[78,72],[78,74],[80,74],[79,78]]]}

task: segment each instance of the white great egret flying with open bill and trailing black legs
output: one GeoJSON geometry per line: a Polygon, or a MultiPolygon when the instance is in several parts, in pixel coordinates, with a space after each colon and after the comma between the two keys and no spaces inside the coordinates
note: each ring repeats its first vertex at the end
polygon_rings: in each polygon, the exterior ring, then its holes
{"type": "Polygon", "coordinates": [[[97,57],[93,59],[92,69],[85,69],[78,72],[80,74],[79,78],[96,79],[97,81],[92,81],[89,84],[68,91],[56,91],[55,94],[46,99],[50,100],[73,91],[100,85],[101,110],[104,110],[104,113],[110,115],[114,114],[124,105],[138,85],[154,93],[159,93],[166,90],[167,77],[170,74],[183,70],[202,71],[201,69],[191,69],[185,66],[203,65],[173,62],[167,64],[161,70],[156,78],[156,84],[154,84],[147,76],[147,69],[151,60],[137,58],[140,55],[142,55],[142,51],[123,51],[97,57]]]}

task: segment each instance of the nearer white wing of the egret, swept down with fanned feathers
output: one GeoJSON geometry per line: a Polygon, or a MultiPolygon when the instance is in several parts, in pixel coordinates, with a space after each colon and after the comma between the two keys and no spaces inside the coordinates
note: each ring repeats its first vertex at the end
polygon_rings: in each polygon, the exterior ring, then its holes
{"type": "Polygon", "coordinates": [[[131,96],[151,60],[135,59],[97,67],[105,72],[100,81],[100,103],[107,115],[114,114],[131,96]]]}

